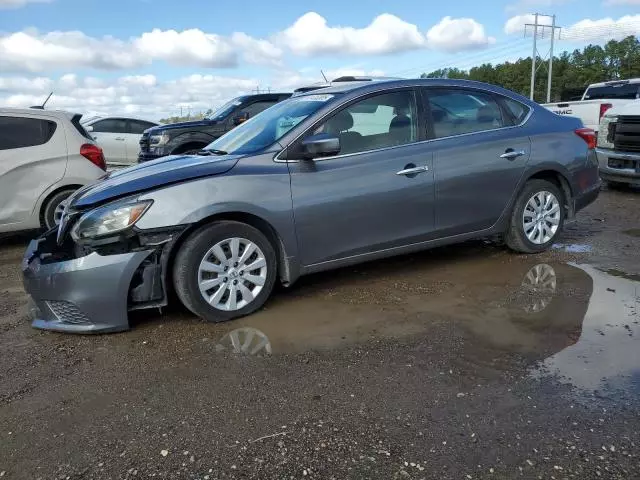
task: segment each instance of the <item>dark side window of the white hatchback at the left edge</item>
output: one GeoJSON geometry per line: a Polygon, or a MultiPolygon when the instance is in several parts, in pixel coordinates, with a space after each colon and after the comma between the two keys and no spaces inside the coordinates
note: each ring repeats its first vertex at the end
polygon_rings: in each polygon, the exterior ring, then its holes
{"type": "Polygon", "coordinates": [[[44,145],[56,131],[50,120],[23,117],[0,117],[0,150],[44,145]]]}

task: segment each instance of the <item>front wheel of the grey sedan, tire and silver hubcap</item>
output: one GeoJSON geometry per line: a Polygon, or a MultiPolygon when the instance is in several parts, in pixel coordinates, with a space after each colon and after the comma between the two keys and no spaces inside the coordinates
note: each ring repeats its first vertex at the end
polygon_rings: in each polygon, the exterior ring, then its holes
{"type": "Polygon", "coordinates": [[[223,221],[201,227],[182,244],[174,261],[173,284],[180,301],[194,314],[209,322],[224,322],[249,315],[262,307],[273,290],[277,273],[275,250],[262,232],[244,223],[223,221]],[[231,239],[238,240],[236,258],[240,261],[251,249],[249,245],[257,247],[237,267],[232,260],[231,239]],[[212,253],[215,246],[219,246],[222,253],[220,249],[217,254],[212,253]],[[224,255],[228,263],[221,261],[220,255],[224,255]],[[205,260],[208,270],[202,271],[205,260]],[[262,264],[265,270],[262,267],[246,272],[241,269],[243,265],[262,264]],[[227,270],[223,271],[225,266],[227,270]],[[263,282],[263,285],[252,281],[263,282]],[[223,288],[225,292],[220,294],[223,288]],[[250,301],[246,300],[249,298],[247,291],[251,294],[250,301]]]}

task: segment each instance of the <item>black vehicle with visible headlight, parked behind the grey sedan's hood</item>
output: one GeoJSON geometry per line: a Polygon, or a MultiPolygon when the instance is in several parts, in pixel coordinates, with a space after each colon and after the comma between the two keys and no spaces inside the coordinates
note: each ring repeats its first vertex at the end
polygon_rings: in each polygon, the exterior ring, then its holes
{"type": "Polygon", "coordinates": [[[290,93],[243,95],[202,120],[150,128],[140,138],[138,163],[166,155],[196,153],[242,122],[290,96],[290,93]]]}

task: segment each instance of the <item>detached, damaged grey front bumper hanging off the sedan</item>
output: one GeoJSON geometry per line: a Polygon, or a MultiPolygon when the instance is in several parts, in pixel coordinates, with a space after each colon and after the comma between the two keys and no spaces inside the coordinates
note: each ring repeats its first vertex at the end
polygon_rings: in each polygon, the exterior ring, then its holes
{"type": "Polygon", "coordinates": [[[128,311],[166,305],[161,251],[60,254],[55,231],[33,240],[22,261],[32,326],[70,333],[127,330],[128,311]]]}

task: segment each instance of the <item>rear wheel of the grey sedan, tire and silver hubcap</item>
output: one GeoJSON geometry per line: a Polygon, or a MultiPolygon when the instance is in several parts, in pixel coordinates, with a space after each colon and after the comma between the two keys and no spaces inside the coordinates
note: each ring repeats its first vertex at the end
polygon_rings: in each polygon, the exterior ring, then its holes
{"type": "Polygon", "coordinates": [[[505,241],[520,253],[547,250],[562,231],[564,195],[547,180],[528,181],[516,200],[505,241]]]}

